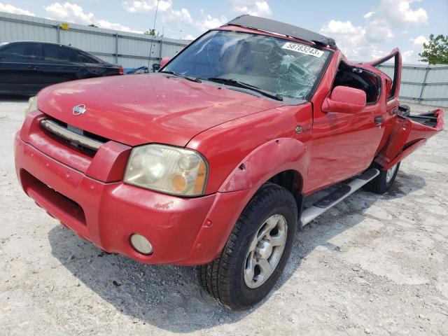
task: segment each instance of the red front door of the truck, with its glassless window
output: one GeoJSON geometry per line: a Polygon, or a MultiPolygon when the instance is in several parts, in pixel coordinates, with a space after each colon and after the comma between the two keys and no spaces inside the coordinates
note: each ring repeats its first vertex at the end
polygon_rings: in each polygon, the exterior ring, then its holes
{"type": "Polygon", "coordinates": [[[313,193],[367,169],[381,141],[384,100],[379,76],[356,64],[340,62],[328,80],[329,90],[314,102],[311,164],[305,193],[313,193]],[[322,111],[323,99],[338,86],[366,92],[366,106],[356,113],[322,111]],[[328,93],[328,91],[330,91],[328,93]]]}

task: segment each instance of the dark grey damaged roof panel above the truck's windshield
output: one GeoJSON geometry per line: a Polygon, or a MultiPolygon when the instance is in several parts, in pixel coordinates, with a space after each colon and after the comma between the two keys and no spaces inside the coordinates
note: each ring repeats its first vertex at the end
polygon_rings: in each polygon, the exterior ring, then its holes
{"type": "Polygon", "coordinates": [[[336,48],[336,42],[332,38],[317,34],[308,29],[295,27],[293,25],[288,25],[287,23],[275,20],[259,18],[258,16],[241,15],[228,22],[227,25],[269,31],[276,34],[298,38],[300,40],[312,42],[318,45],[323,45],[325,47],[328,46],[330,48],[336,48]]]}

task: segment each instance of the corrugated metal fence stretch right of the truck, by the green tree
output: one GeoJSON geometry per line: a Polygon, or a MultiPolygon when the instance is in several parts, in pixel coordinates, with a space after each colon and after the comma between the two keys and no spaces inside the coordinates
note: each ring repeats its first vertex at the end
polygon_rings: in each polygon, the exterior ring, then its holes
{"type": "MultiPolygon", "coordinates": [[[[379,66],[393,77],[393,65],[379,66]]],[[[433,106],[448,106],[447,65],[402,65],[400,101],[433,106]]]]}

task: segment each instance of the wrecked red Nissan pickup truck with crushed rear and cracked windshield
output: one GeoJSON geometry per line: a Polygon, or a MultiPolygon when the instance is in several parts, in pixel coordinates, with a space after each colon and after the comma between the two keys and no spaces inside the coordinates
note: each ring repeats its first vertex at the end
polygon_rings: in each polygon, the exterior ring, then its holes
{"type": "Polygon", "coordinates": [[[15,136],[18,178],[104,251],[197,265],[205,290],[244,309],[272,289],[298,228],[362,186],[385,193],[442,130],[442,110],[399,105],[400,67],[398,49],[351,63],[332,38],[244,15],[158,73],[42,90],[15,136]],[[378,69],[389,61],[393,76],[378,69]]]}

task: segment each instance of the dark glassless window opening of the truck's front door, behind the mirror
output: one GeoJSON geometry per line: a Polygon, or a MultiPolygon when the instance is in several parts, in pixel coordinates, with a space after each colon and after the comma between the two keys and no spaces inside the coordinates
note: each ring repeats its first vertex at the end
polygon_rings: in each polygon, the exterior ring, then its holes
{"type": "Polygon", "coordinates": [[[373,104],[379,98],[381,81],[378,76],[370,71],[340,62],[332,89],[336,86],[347,86],[363,90],[367,104],[373,104]]]}

